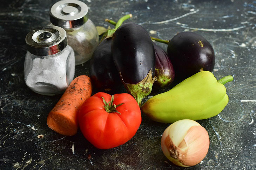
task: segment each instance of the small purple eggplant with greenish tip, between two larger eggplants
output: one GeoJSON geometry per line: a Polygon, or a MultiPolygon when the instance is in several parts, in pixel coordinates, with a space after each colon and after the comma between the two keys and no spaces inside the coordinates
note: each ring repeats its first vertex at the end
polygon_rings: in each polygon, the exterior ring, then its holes
{"type": "Polygon", "coordinates": [[[160,89],[168,87],[174,80],[174,69],[171,60],[163,49],[153,42],[155,48],[155,76],[156,82],[153,87],[160,89]]]}

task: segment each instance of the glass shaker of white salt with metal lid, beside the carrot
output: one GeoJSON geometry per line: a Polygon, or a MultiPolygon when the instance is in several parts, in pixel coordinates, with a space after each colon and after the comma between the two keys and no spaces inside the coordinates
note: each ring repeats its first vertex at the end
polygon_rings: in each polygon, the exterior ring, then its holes
{"type": "Polygon", "coordinates": [[[26,85],[42,95],[63,93],[75,74],[74,51],[66,31],[56,26],[38,27],[27,34],[26,43],[26,85]]]}

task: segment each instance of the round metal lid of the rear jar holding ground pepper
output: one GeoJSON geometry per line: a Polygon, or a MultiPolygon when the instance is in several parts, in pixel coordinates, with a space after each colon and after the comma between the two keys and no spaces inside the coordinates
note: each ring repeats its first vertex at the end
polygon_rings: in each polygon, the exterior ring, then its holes
{"type": "Polygon", "coordinates": [[[53,25],[65,29],[75,28],[86,23],[87,12],[87,5],[81,1],[58,1],[50,8],[50,21],[53,25]]]}

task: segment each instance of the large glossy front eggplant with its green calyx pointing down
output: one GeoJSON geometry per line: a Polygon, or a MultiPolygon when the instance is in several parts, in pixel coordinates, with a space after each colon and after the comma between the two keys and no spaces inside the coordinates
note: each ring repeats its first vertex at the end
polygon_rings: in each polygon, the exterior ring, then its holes
{"type": "Polygon", "coordinates": [[[155,50],[148,32],[135,23],[122,24],[113,34],[111,49],[124,87],[140,105],[155,81],[155,50]]]}

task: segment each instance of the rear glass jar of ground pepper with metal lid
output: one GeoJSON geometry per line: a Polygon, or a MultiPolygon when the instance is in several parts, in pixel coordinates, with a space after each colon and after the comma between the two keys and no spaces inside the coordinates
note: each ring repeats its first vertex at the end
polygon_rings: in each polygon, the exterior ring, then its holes
{"type": "Polygon", "coordinates": [[[75,65],[88,61],[99,43],[97,29],[87,12],[87,5],[78,0],[58,1],[50,8],[50,22],[67,32],[68,45],[75,52],[75,65]]]}

